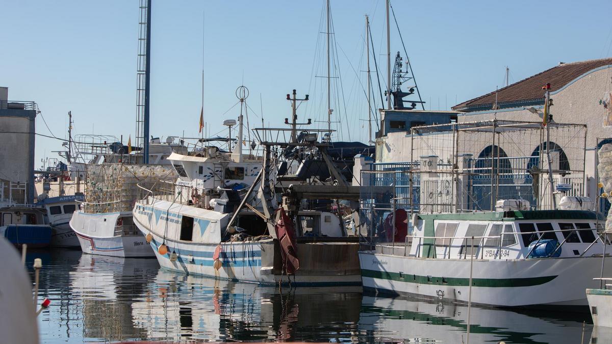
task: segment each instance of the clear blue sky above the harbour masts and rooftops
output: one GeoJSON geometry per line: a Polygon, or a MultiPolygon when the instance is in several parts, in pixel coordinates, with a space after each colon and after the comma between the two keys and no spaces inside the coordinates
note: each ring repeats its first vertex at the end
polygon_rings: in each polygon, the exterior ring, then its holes
{"type": "MultiPolygon", "coordinates": [[[[427,109],[448,109],[502,86],[506,65],[512,82],[559,61],[612,54],[609,0],[394,0],[392,6],[427,109]]],[[[341,116],[338,136],[364,141],[364,15],[370,15],[384,77],[384,0],[332,0],[331,7],[341,76],[334,81],[344,94],[332,106],[341,116]]],[[[0,9],[0,86],[9,86],[9,99],[37,102],[56,136],[66,135],[72,111],[76,133],[124,135],[124,143],[133,138],[138,0],[2,0],[0,9]]],[[[326,81],[315,78],[326,73],[323,9],[323,0],[154,0],[151,134],[198,135],[203,29],[204,117],[211,133],[222,129],[223,119],[236,118],[237,108],[226,111],[243,80],[251,127],[261,124],[260,94],[266,125],[283,126],[290,113],[285,94],[294,88],[312,99],[299,108],[300,119],[326,118],[326,81]]],[[[402,48],[394,24],[391,31],[394,54],[402,48]]],[[[36,130],[48,134],[40,116],[36,130]]],[[[36,144],[37,166],[61,148],[61,141],[40,136],[36,144]]]]}

